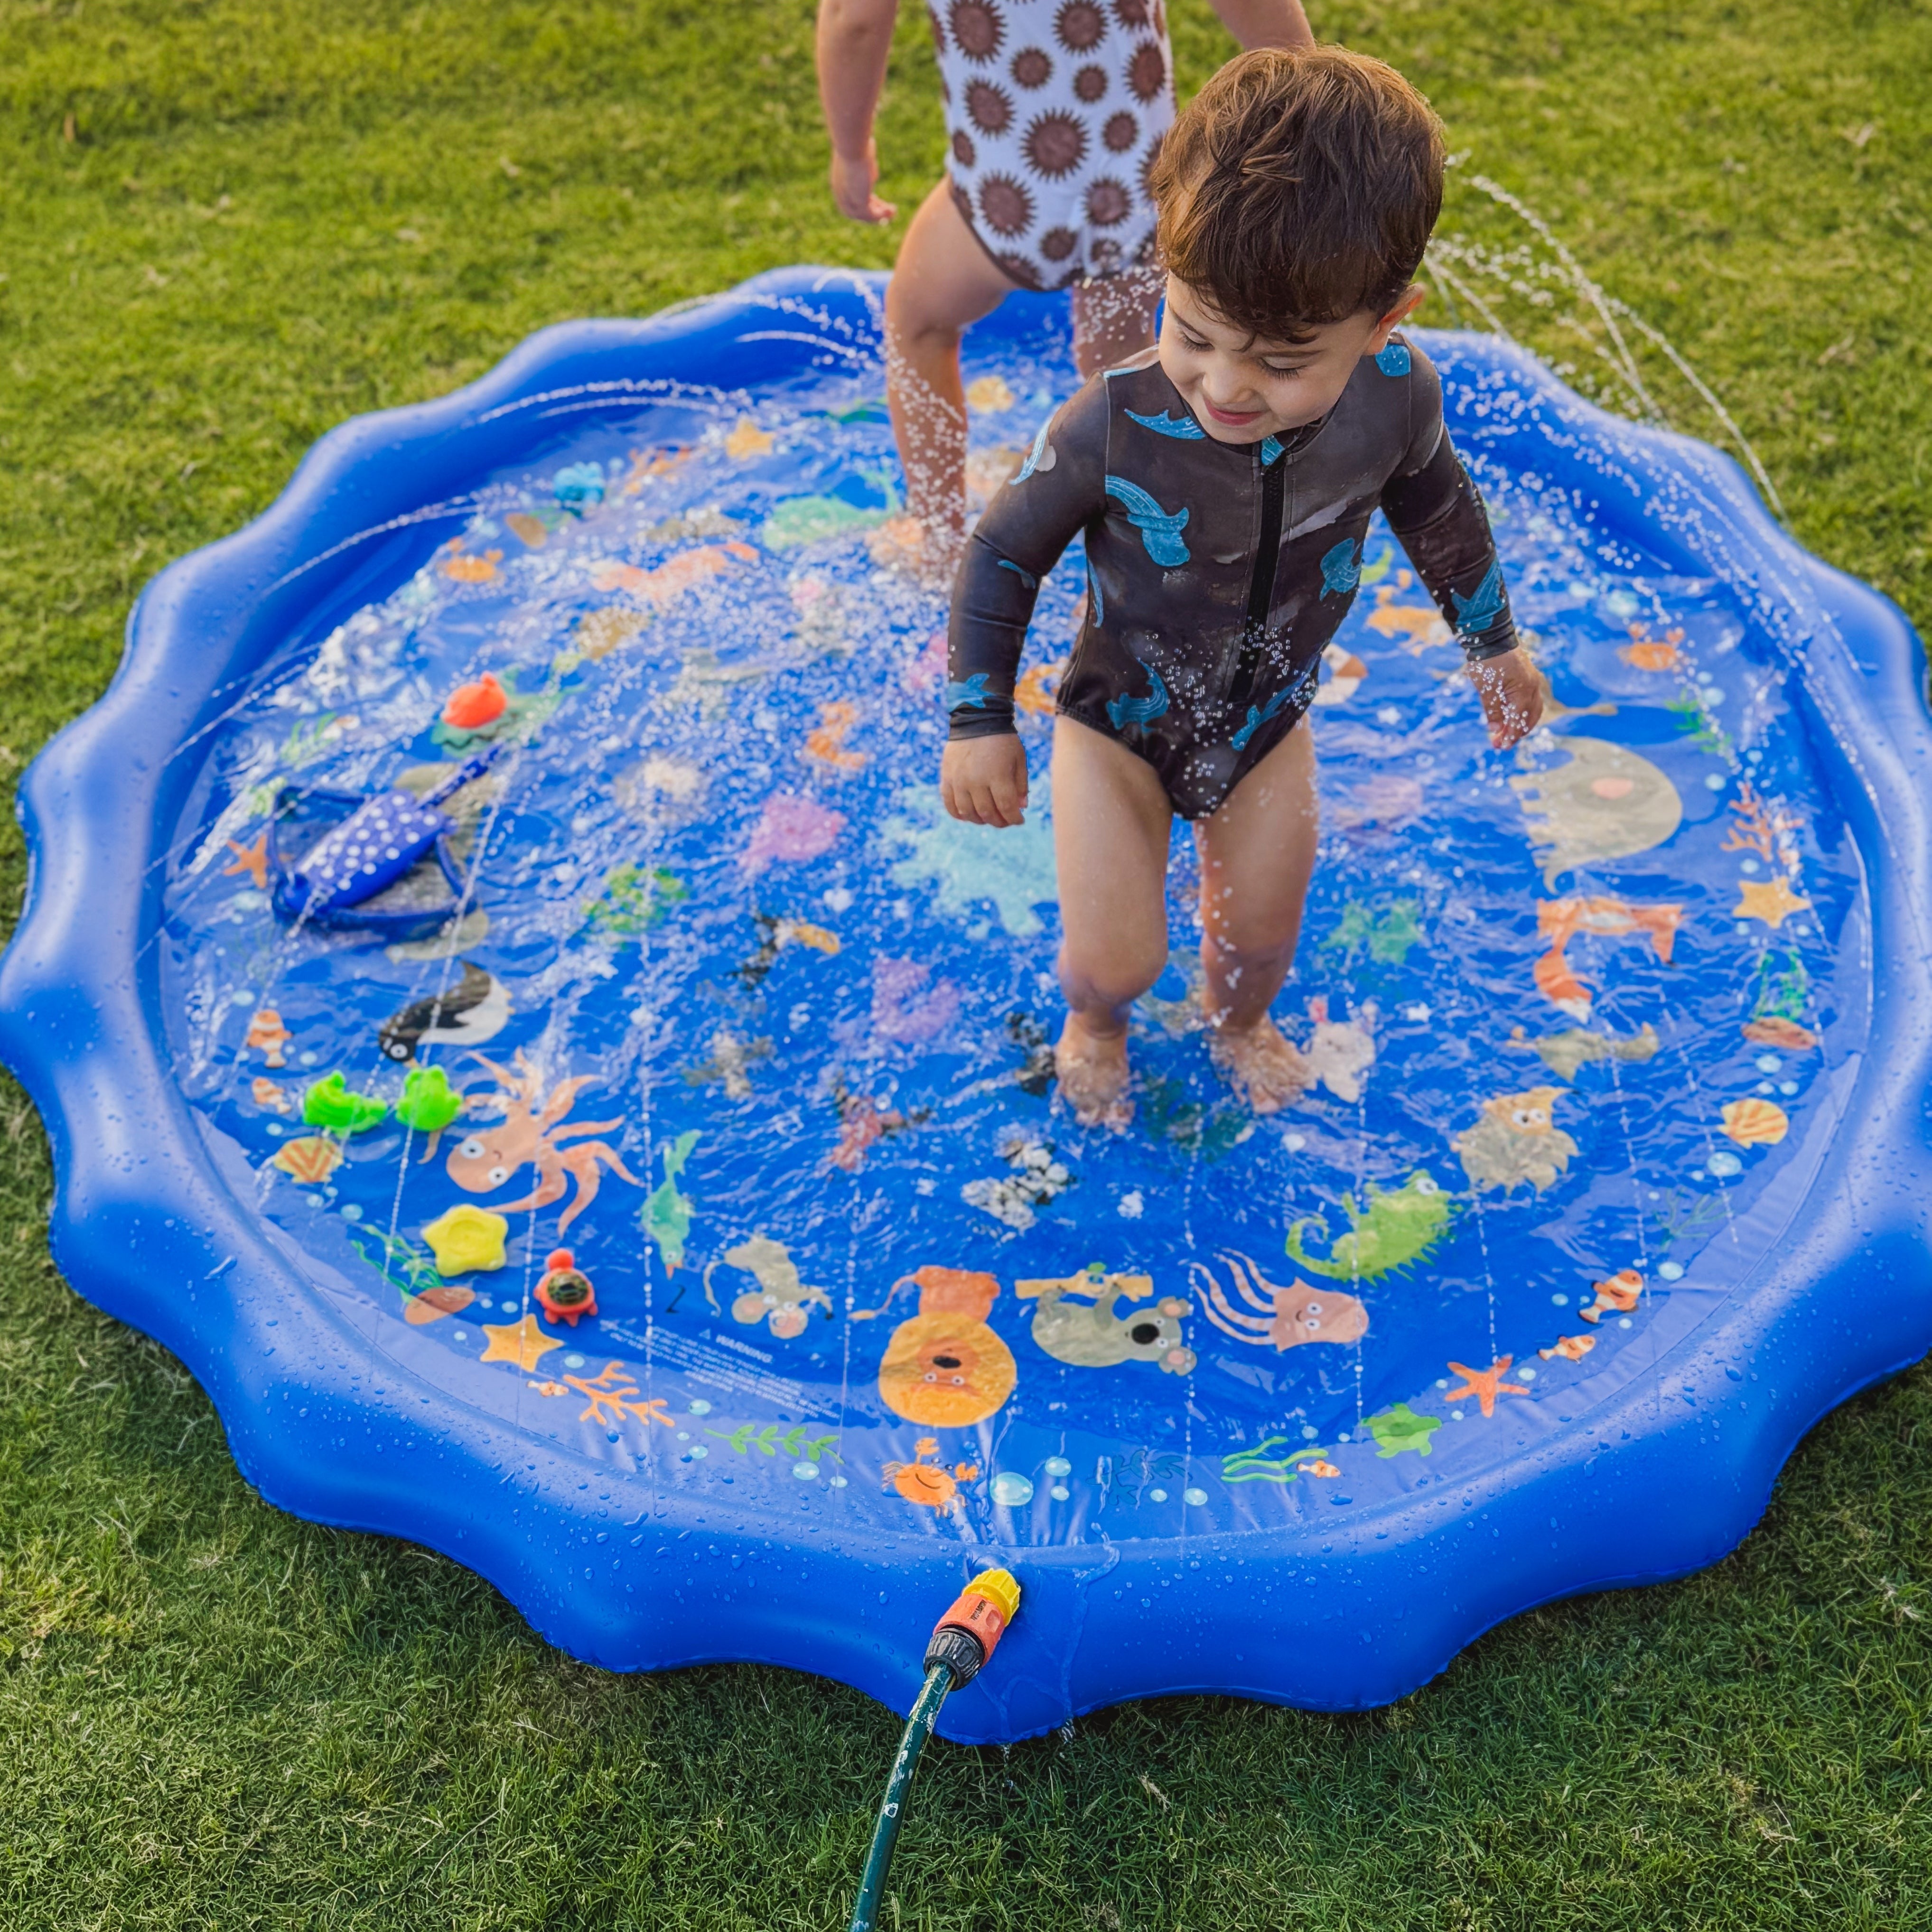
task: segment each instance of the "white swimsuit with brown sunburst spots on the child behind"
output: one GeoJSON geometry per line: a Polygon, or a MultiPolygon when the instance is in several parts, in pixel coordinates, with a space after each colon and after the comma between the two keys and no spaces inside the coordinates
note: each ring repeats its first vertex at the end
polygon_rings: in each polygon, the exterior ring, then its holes
{"type": "Polygon", "coordinates": [[[1161,0],[935,0],[952,199],[1022,288],[1153,247],[1148,170],[1175,120],[1161,0]]]}

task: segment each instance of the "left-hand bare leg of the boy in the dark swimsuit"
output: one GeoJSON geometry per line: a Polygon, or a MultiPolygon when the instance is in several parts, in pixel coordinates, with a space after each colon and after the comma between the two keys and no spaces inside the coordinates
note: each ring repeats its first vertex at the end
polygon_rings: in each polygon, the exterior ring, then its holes
{"type": "Polygon", "coordinates": [[[1053,721],[1059,966],[1072,1009],[1055,1063],[1082,1126],[1122,1128],[1134,1117],[1126,1012],[1167,966],[1171,823],[1173,806],[1146,759],[1072,719],[1053,721]]]}

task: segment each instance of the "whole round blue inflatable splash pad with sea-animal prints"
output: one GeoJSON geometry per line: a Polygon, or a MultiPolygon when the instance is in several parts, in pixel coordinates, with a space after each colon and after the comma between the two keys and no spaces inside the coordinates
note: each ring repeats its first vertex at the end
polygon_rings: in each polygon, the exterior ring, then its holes
{"type": "MultiPolygon", "coordinates": [[[[972,332],[981,493],[1065,340],[1045,298],[972,332]]],[[[1424,342],[1551,719],[1490,752],[1370,541],[1277,1009],[1304,1103],[1209,1068],[1182,854],[1132,1132],[1055,1105],[1078,556],[1030,823],[960,827],[943,614],[869,551],[879,284],[788,270],[354,421],[147,587],[25,781],[0,974],[68,1277],[267,1497],[614,1669],[904,1708],[1010,1567],[964,1741],[1376,1704],[1727,1551],[1932,1347],[1918,647],[1725,458],[1424,342]]]]}

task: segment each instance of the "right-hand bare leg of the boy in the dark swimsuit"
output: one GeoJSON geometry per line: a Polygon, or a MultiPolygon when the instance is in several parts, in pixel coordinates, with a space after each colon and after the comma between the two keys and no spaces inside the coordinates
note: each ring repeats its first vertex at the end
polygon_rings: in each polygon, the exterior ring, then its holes
{"type": "Polygon", "coordinates": [[[1267,1009],[1294,964],[1316,866],[1314,779],[1304,719],[1194,827],[1209,1051],[1256,1113],[1275,1113],[1308,1086],[1308,1063],[1267,1009]]]}

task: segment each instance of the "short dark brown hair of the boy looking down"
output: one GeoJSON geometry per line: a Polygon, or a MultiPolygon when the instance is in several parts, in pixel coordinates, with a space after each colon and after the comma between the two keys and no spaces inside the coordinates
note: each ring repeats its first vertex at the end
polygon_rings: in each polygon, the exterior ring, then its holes
{"type": "Polygon", "coordinates": [[[1443,129],[1381,60],[1258,48],[1194,97],[1148,185],[1161,265],[1233,327],[1302,342],[1408,286],[1443,205],[1443,129]]]}

